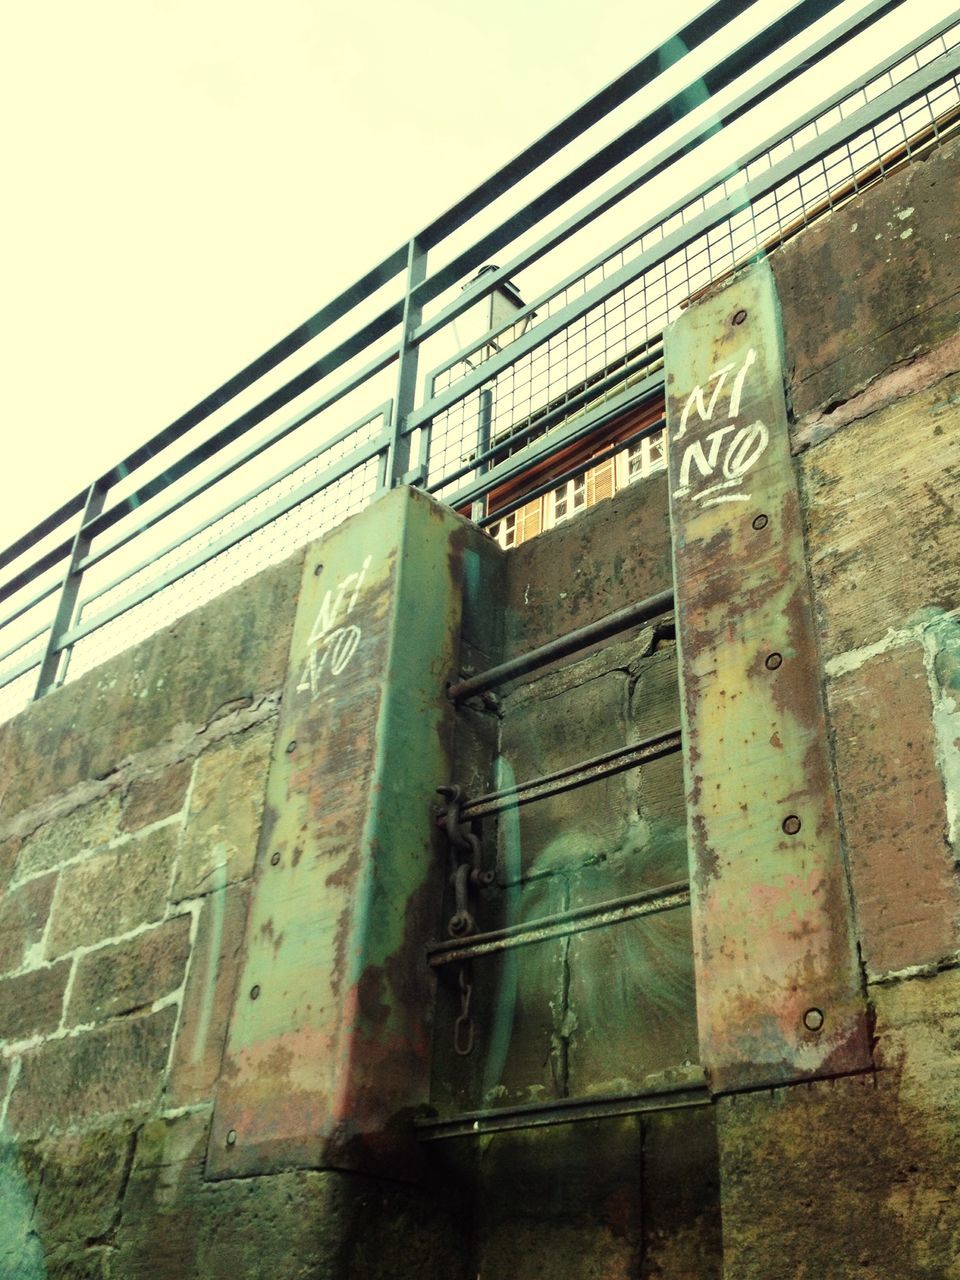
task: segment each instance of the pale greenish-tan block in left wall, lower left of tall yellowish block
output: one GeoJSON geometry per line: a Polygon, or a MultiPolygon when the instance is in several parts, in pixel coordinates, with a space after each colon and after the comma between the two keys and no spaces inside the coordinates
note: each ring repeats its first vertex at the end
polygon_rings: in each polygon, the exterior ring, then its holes
{"type": "Polygon", "coordinates": [[[65,955],[159,920],[177,849],[173,827],[74,863],[60,874],[47,955],[65,955]]]}

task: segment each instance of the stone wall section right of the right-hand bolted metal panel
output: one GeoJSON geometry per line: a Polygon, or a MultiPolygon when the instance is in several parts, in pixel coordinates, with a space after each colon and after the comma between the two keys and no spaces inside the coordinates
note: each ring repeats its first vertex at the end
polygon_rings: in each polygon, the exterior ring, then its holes
{"type": "Polygon", "coordinates": [[[731,1280],[960,1276],[959,163],[772,260],[876,1070],[719,1100],[731,1280]]]}

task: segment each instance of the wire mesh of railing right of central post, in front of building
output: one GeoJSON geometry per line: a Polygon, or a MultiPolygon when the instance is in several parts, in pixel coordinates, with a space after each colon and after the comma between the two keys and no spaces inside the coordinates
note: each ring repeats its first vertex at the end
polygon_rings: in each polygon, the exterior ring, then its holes
{"type": "MultiPolygon", "coordinates": [[[[655,255],[668,237],[701,220],[714,206],[731,201],[736,205],[739,192],[748,183],[762,180],[774,165],[788,161],[801,147],[808,147],[828,129],[842,125],[860,108],[886,90],[895,88],[941,54],[956,49],[957,44],[960,24],[806,122],[774,147],[750,157],[728,177],[682,205],[669,219],[618,244],[582,274],[531,303],[531,310],[536,312],[534,325],[576,303],[598,284],[622,273],[632,260],[655,255]]],[[[692,236],[480,389],[454,401],[431,424],[428,476],[431,492],[448,500],[458,500],[462,485],[456,481],[462,479],[463,462],[476,457],[481,449],[484,398],[489,410],[483,438],[489,434],[493,445],[524,431],[530,433],[538,416],[549,413],[549,428],[535,436],[540,452],[541,435],[558,434],[568,422],[568,415],[562,412],[564,401],[576,399],[576,412],[585,411],[581,393],[589,389],[591,381],[603,380],[603,392],[591,402],[595,408],[598,402],[621,394],[641,371],[654,372],[662,364],[658,339],[663,330],[707,285],[758,253],[773,251],[815,220],[940,145],[957,128],[959,114],[960,78],[954,74],[840,146],[818,155],[758,198],[745,197],[742,207],[731,216],[692,236]],[[561,412],[557,412],[558,408],[561,412]]],[[[466,361],[442,369],[433,379],[433,393],[456,388],[457,381],[481,362],[483,352],[476,348],[466,361]]],[[[479,475],[477,471],[475,479],[479,475]]]]}

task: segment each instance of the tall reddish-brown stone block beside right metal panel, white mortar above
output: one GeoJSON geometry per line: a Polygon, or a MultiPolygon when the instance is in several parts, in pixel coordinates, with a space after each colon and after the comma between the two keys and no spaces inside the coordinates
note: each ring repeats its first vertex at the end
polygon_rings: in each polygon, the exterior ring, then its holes
{"type": "Polygon", "coordinates": [[[960,895],[923,650],[891,649],[838,676],[829,708],[868,972],[950,955],[960,895]]]}

